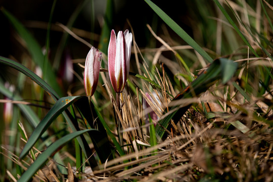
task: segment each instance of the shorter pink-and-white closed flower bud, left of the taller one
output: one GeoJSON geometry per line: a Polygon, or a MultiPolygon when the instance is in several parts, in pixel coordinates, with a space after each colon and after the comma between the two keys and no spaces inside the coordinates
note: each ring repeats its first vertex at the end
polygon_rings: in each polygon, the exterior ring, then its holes
{"type": "Polygon", "coordinates": [[[84,67],[84,88],[87,96],[93,96],[98,85],[102,53],[92,47],[87,54],[84,67]]]}

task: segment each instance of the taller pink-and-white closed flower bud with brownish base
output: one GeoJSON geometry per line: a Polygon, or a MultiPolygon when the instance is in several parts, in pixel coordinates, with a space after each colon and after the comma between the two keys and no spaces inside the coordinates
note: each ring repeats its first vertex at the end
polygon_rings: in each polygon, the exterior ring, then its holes
{"type": "Polygon", "coordinates": [[[128,30],[111,31],[108,47],[108,71],[111,84],[116,93],[121,93],[129,74],[132,34],[128,30]]]}

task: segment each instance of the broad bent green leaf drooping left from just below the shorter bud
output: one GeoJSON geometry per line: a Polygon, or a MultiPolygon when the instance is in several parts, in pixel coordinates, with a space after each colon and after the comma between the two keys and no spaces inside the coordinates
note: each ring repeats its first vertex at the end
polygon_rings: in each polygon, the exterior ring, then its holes
{"type": "Polygon", "coordinates": [[[67,107],[69,107],[72,103],[74,103],[77,99],[82,96],[74,96],[74,97],[64,97],[59,99],[56,104],[51,108],[47,115],[39,122],[37,127],[34,129],[32,134],[30,135],[24,149],[20,154],[20,158],[22,159],[28,153],[28,151],[32,148],[32,146],[36,143],[36,141],[40,138],[42,133],[47,130],[50,124],[56,119],[67,107]]]}

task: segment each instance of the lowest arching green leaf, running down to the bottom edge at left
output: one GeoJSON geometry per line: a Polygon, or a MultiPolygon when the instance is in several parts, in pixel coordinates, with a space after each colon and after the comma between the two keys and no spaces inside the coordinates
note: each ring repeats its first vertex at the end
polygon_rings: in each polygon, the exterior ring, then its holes
{"type": "Polygon", "coordinates": [[[47,150],[42,152],[37,159],[29,166],[29,168],[22,174],[22,176],[18,179],[20,181],[28,181],[43,165],[49,157],[52,156],[56,151],[60,150],[60,147],[65,145],[67,142],[71,141],[72,139],[76,138],[77,136],[87,132],[98,132],[96,129],[85,129],[81,131],[76,131],[70,134],[67,134],[63,138],[59,139],[58,141],[54,142],[47,150]]]}

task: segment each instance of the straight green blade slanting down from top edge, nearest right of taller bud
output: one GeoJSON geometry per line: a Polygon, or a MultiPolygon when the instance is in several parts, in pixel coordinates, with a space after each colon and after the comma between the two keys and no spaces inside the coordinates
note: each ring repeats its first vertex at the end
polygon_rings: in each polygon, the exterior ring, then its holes
{"type": "Polygon", "coordinates": [[[145,0],[145,2],[155,11],[155,13],[183,40],[185,40],[195,51],[197,51],[201,56],[203,56],[209,63],[213,60],[212,58],[194,41],[194,39],[184,31],[177,23],[175,23],[165,12],[163,12],[158,6],[156,6],[150,0],[145,0]]]}

